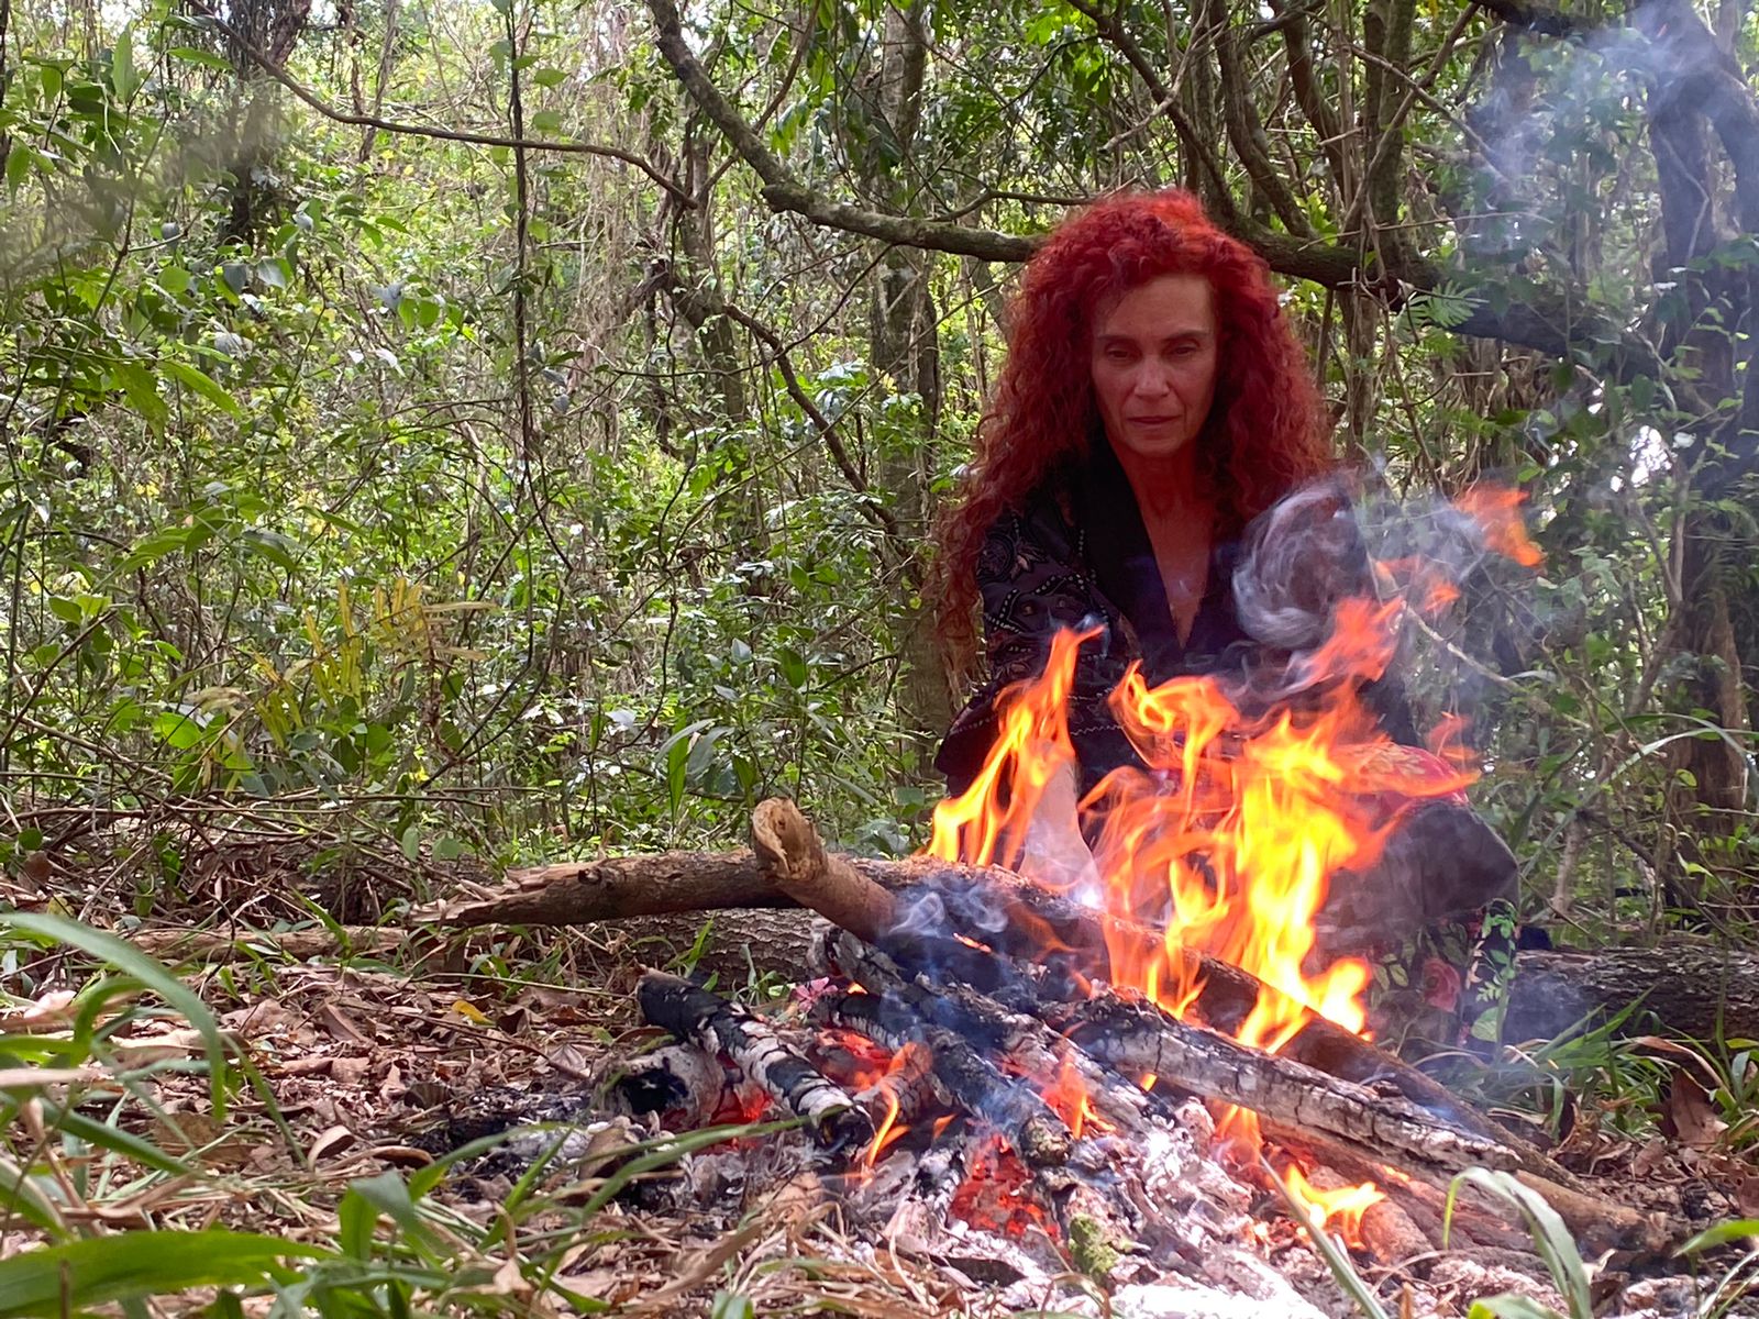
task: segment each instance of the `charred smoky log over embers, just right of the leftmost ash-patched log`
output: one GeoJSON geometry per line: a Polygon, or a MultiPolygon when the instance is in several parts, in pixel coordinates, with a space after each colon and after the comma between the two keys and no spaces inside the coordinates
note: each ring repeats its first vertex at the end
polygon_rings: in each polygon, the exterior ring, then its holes
{"type": "Polygon", "coordinates": [[[814,1017],[858,1031],[894,1050],[923,1045],[932,1055],[934,1078],[967,1113],[983,1119],[1034,1168],[1066,1162],[1069,1129],[1038,1094],[985,1059],[946,1027],[922,1020],[878,994],[830,994],[813,1006],[814,1017]]]}

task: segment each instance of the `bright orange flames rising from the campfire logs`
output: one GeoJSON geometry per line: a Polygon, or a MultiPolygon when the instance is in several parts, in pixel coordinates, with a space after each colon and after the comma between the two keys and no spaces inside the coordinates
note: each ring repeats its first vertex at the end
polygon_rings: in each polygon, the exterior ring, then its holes
{"type": "MultiPolygon", "coordinates": [[[[1476,485],[1456,506],[1478,519],[1492,550],[1532,566],[1539,552],[1522,528],[1522,498],[1476,485]]],[[[1062,823],[1082,855],[1091,844],[1092,867],[1061,886],[1131,927],[1164,927],[1161,944],[1143,950],[1108,923],[1112,983],[1184,1015],[1201,988],[1189,953],[1231,962],[1274,990],[1238,1031],[1266,1052],[1314,1013],[1365,1031],[1369,966],[1316,955],[1316,916],[1330,883],[1340,871],[1372,865],[1412,800],[1456,797],[1476,777],[1451,744],[1453,726],[1441,733],[1444,754],[1427,756],[1393,744],[1356,695],[1386,672],[1404,610],[1444,608],[1458,596],[1456,582],[1420,559],[1381,563],[1376,580],[1386,598],[1340,601],[1323,644],[1291,661],[1293,695],[1281,703],[1249,703],[1247,693],[1233,695],[1212,677],[1150,688],[1131,668],[1110,705],[1145,769],[1113,770],[1062,823]]],[[[1078,777],[1068,698],[1078,649],[1098,635],[1061,631],[1043,675],[1003,693],[996,746],[971,788],[936,807],[929,855],[1015,869],[1031,860],[1029,830],[1038,846],[1045,816],[1066,809],[1059,802],[1078,777]]],[[[1069,1068],[1040,1082],[1073,1119],[1071,1129],[1091,1122],[1069,1103],[1082,1094],[1069,1068]]],[[[1254,1145],[1256,1126],[1251,1113],[1223,1124],[1233,1140],[1254,1145]]]]}

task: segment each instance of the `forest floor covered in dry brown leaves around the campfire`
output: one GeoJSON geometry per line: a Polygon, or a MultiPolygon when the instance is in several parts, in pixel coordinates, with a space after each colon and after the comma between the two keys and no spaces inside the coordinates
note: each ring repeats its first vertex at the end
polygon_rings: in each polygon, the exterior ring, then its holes
{"type": "MultiPolygon", "coordinates": [[[[413,872],[387,871],[385,878],[390,890],[420,883],[413,872]]],[[[250,927],[310,916],[297,890],[269,895],[262,885],[260,871],[241,876],[215,869],[206,876],[206,893],[230,909],[248,909],[243,923],[250,927]]],[[[137,925],[132,920],[97,918],[97,892],[83,897],[81,915],[93,923],[141,936],[127,929],[137,925]]],[[[16,885],[0,899],[26,913],[72,906],[65,895],[46,900],[40,890],[16,885]]],[[[519,1161],[471,1157],[445,1168],[459,1133],[468,1134],[470,1113],[531,1111],[533,1096],[586,1099],[607,1060],[651,1041],[633,985],[644,966],[672,962],[674,950],[609,930],[551,930],[542,937],[482,930],[433,944],[412,939],[389,955],[311,960],[290,960],[264,941],[255,955],[186,967],[185,983],[234,1053],[248,1059],[230,1073],[227,1108],[218,1117],[202,1066],[204,1036],[186,1015],[164,1009],[135,985],[106,999],[93,1017],[88,958],[65,946],[12,957],[12,969],[37,992],[0,1001],[0,1036],[79,1038],[91,1034],[95,1020],[90,1057],[46,1094],[77,1087],[79,1111],[99,1115],[135,1143],[106,1150],[90,1140],[56,1141],[55,1124],[40,1110],[19,1110],[25,1138],[16,1129],[12,1148],[23,1154],[28,1145],[32,1155],[19,1164],[46,1170],[58,1187],[62,1221],[77,1231],[225,1226],[322,1249],[338,1242],[348,1249],[354,1238],[359,1263],[373,1261],[371,1277],[401,1279],[427,1312],[1018,1312],[1018,1293],[1004,1307],[1001,1291],[974,1284],[960,1268],[851,1233],[836,1198],[800,1178],[748,1187],[741,1203],[719,1215],[644,1208],[628,1194],[631,1184],[675,1177],[677,1166],[705,1148],[695,1134],[631,1147],[630,1129],[612,1126],[566,1166],[556,1161],[531,1171],[519,1161]],[[142,1164],[142,1150],[157,1152],[164,1166],[142,1164]],[[359,1240],[362,1203],[371,1208],[368,1240],[376,1228],[373,1245],[359,1240]]],[[[753,967],[746,983],[721,988],[762,1004],[786,987],[753,967]]],[[[1655,1041],[1655,1050],[1664,1052],[1664,1041],[1655,1041]]],[[[1682,1050],[1675,1064],[1690,1071],[1687,1055],[1682,1050]]],[[[1664,1108],[1648,1138],[1620,1134],[1609,1120],[1641,1097],[1578,1099],[1558,1090],[1558,1104],[1571,1110],[1566,1145],[1573,1164],[1629,1184],[1641,1192],[1636,1201],[1650,1205],[1680,1205],[1703,1185],[1719,1196],[1715,1208],[1745,1206],[1759,1191],[1759,1168],[1722,1143],[1727,1124],[1704,1099],[1708,1090],[1675,1085],[1662,1092],[1664,1108]]],[[[746,1127],[744,1134],[725,1133],[725,1140],[756,1145],[774,1133],[746,1127]]],[[[1254,1213],[1261,1219],[1254,1249],[1272,1268],[1321,1314],[1360,1312],[1275,1196],[1266,1192],[1254,1213]]],[[[1513,1210],[1511,1219],[1518,1219],[1513,1210]]],[[[0,1257],[40,1240],[42,1233],[18,1217],[0,1221],[0,1257]]],[[[1537,1257],[1525,1263],[1530,1268],[1478,1264],[1462,1273],[1449,1272],[1448,1261],[1390,1270],[1356,1259],[1361,1280],[1391,1314],[1465,1314],[1492,1291],[1569,1312],[1571,1301],[1544,1279],[1537,1257]]],[[[1704,1259],[1701,1277],[1694,1277],[1692,1261],[1650,1261],[1632,1270],[1601,1257],[1587,1261],[1583,1279],[1599,1314],[1759,1312],[1754,1301],[1740,1300],[1740,1287],[1720,1286],[1731,1264],[1736,1277],[1750,1277],[1738,1273],[1750,1259],[1741,1263],[1738,1247],[1724,1247],[1704,1259]]],[[[1080,1310],[1087,1314],[1161,1312],[1113,1305],[1078,1279],[1055,1282],[1059,1307],[1085,1294],[1089,1303],[1080,1310]]],[[[343,1275],[332,1284],[364,1286],[361,1277],[343,1275]]],[[[155,1307],[185,1312],[211,1298],[211,1291],[195,1289],[155,1307]]],[[[255,1305],[246,1301],[246,1308],[255,1305]]],[[[1245,1312],[1266,1310],[1249,1305],[1245,1312]]]]}

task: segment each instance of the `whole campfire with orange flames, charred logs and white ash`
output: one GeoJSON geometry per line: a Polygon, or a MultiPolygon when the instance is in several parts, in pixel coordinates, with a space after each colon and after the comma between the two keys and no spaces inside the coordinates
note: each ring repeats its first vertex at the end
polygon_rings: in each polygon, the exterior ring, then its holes
{"type": "MultiPolygon", "coordinates": [[[[1514,499],[1462,510],[1534,561],[1514,499]]],[[[1094,637],[1059,635],[909,862],[839,856],[793,804],[760,805],[741,883],[823,918],[814,978],[760,1015],[647,973],[642,1017],[674,1043],[621,1060],[607,1103],[668,1131],[788,1119],[698,1155],[675,1192],[702,1208],[804,1175],[871,1240],[1022,1301],[1073,1270],[1113,1298],[1210,1287],[1305,1312],[1259,1249],[1279,1217],[1383,1263],[1520,1247],[1460,1192],[1467,1170],[1537,1194],[1585,1249],[1676,1242],[1370,1038],[1370,967],[1328,946],[1332,886],[1400,811],[1472,781],[1453,728],[1412,756],[1358,696],[1402,616],[1453,582],[1412,556],[1374,565],[1374,587],[1244,684],[1131,672],[1112,709],[1142,767],[1080,800],[1066,700],[1094,637]]]]}

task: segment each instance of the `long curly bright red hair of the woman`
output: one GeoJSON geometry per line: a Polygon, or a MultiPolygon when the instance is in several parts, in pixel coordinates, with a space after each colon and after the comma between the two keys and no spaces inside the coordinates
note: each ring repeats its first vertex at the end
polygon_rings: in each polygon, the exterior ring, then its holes
{"type": "Polygon", "coordinates": [[[1215,403],[1198,461],[1217,533],[1237,535],[1330,466],[1319,389],[1258,253],[1217,229],[1187,192],[1094,202],[1025,264],[1008,306],[1008,364],[960,498],[938,528],[936,594],[955,672],[967,674],[976,656],[985,533],[1101,434],[1089,364],[1094,308],[1163,274],[1201,274],[1215,294],[1215,403]]]}

